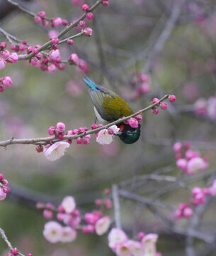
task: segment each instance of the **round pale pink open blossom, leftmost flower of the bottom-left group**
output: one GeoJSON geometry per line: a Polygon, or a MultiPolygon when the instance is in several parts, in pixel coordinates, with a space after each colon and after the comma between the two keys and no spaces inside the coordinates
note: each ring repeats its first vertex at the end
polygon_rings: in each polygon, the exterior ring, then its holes
{"type": "Polygon", "coordinates": [[[59,242],[62,239],[62,225],[51,220],[45,224],[42,234],[48,242],[59,242]]]}

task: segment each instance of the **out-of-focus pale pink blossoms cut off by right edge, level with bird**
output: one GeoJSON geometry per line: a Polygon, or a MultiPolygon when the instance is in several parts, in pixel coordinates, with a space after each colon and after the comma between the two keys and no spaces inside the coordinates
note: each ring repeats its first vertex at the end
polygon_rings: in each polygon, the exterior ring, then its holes
{"type": "Polygon", "coordinates": [[[196,100],[193,105],[195,114],[201,117],[207,117],[212,120],[216,119],[216,94],[207,100],[203,97],[196,100]]]}

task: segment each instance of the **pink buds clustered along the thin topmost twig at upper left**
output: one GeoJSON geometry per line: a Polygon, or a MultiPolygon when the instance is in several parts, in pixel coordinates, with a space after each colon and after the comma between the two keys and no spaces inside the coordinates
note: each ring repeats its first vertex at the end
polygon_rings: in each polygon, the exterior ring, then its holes
{"type": "Polygon", "coordinates": [[[51,21],[46,17],[45,11],[39,11],[38,14],[35,16],[36,23],[42,23],[42,26],[47,28],[48,26],[58,27],[58,26],[67,26],[68,21],[64,18],[55,17],[52,18],[51,21]]]}

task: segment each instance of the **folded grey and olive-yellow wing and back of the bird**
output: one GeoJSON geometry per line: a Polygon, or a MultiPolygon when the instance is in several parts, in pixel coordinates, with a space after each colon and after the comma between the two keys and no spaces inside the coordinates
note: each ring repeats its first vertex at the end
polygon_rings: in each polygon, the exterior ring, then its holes
{"type": "Polygon", "coordinates": [[[96,86],[98,90],[89,90],[89,95],[93,105],[103,119],[113,122],[120,119],[120,117],[132,114],[132,110],[127,102],[115,94],[115,92],[100,85],[96,86]]]}

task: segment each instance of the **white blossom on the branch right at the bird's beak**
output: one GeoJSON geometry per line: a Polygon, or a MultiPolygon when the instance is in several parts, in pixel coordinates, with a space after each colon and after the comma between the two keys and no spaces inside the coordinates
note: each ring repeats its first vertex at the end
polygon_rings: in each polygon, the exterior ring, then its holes
{"type": "Polygon", "coordinates": [[[96,142],[101,145],[110,144],[111,142],[113,142],[113,134],[118,134],[119,130],[120,129],[116,125],[112,125],[108,129],[102,129],[98,132],[96,142]]]}

